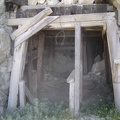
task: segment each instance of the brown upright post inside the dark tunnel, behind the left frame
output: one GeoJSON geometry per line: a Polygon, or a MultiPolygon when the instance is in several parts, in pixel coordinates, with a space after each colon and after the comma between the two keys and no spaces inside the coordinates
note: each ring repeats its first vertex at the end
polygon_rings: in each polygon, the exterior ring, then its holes
{"type": "Polygon", "coordinates": [[[44,41],[45,35],[43,32],[39,34],[39,43],[38,43],[38,59],[37,59],[37,91],[38,98],[40,98],[41,90],[41,81],[43,80],[43,56],[44,56],[44,41]]]}

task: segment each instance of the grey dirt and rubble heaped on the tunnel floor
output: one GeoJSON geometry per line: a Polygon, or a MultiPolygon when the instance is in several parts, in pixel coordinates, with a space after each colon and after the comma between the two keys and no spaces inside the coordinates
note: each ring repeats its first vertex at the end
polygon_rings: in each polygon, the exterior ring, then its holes
{"type": "MultiPolygon", "coordinates": [[[[106,84],[103,61],[93,65],[91,72],[83,76],[83,104],[88,102],[97,103],[99,101],[111,101],[113,99],[112,86],[106,84]]],[[[55,77],[45,71],[44,80],[41,87],[41,98],[48,98],[54,103],[60,101],[68,102],[69,84],[64,78],[55,77]]]]}

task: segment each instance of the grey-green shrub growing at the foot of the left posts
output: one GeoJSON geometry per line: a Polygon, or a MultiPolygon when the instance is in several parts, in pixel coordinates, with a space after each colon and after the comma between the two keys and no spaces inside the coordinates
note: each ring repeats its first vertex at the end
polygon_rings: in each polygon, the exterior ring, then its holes
{"type": "Polygon", "coordinates": [[[48,100],[35,100],[34,105],[27,104],[23,109],[7,110],[1,120],[70,120],[68,106],[61,102],[53,104],[48,100]]]}

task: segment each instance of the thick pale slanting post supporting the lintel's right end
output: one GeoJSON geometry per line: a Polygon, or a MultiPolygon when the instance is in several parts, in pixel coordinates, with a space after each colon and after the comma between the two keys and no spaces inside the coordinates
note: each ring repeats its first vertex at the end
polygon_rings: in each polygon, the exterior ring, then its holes
{"type": "Polygon", "coordinates": [[[112,70],[113,79],[113,89],[114,89],[114,99],[115,105],[118,110],[120,110],[120,65],[114,63],[115,58],[120,58],[118,47],[118,28],[115,19],[107,20],[107,40],[110,55],[110,63],[112,70]]]}

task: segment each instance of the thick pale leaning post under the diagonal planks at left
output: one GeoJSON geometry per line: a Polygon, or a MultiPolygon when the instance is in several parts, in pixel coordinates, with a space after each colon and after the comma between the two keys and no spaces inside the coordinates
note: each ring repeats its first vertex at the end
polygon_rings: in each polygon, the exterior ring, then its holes
{"type": "MultiPolygon", "coordinates": [[[[15,41],[16,43],[16,41],[15,41]]],[[[13,67],[10,78],[8,108],[16,108],[18,98],[18,84],[23,79],[28,42],[23,42],[14,48],[13,67]]]]}

